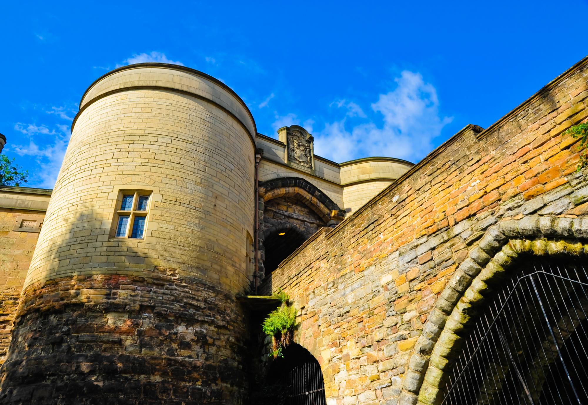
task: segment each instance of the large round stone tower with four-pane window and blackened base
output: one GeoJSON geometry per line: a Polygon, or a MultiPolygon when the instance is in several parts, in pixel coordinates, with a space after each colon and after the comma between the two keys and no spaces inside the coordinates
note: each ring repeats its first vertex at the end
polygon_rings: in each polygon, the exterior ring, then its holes
{"type": "Polygon", "coordinates": [[[183,66],[86,90],[0,403],[243,402],[255,133],[235,92],[183,66]]]}

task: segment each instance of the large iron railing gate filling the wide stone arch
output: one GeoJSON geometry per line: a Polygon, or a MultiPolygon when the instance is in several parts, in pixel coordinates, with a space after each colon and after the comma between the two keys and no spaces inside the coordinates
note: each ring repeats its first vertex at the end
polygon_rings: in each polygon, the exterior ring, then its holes
{"type": "Polygon", "coordinates": [[[443,404],[588,404],[588,275],[536,262],[503,280],[479,313],[443,404]]]}

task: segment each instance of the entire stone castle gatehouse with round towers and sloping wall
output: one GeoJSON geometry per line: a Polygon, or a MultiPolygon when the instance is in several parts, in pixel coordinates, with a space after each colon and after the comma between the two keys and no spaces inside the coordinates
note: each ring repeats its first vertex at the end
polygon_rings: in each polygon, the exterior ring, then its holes
{"type": "Polygon", "coordinates": [[[205,73],[107,73],[54,190],[0,187],[0,402],[586,403],[587,96],[583,59],[417,164],[336,163],[205,73]]]}

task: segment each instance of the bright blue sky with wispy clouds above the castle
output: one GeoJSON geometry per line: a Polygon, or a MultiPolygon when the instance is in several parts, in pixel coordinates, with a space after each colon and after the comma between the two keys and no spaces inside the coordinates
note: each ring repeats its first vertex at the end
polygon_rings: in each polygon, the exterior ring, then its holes
{"type": "Polygon", "coordinates": [[[579,0],[2,2],[4,153],[53,187],[85,89],[156,61],[223,80],[260,133],[300,124],[335,161],[416,162],[582,59],[587,14],[579,0]]]}

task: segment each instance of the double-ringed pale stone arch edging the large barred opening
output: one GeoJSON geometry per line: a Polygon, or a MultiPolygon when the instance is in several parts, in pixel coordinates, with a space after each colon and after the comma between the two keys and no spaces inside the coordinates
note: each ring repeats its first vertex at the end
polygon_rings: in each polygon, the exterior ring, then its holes
{"type": "Polygon", "coordinates": [[[410,356],[399,404],[435,404],[456,332],[469,318],[463,311],[475,305],[480,291],[486,289],[485,281],[504,272],[524,253],[588,255],[588,219],[529,215],[490,227],[428,314],[410,356]]]}

